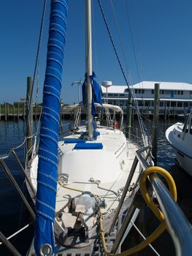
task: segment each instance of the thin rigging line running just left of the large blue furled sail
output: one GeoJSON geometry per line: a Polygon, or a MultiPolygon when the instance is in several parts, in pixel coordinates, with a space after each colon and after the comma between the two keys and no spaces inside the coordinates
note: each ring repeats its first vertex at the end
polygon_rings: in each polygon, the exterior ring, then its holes
{"type": "MultiPolygon", "coordinates": [[[[36,72],[37,72],[37,64],[39,61],[39,50],[40,50],[40,46],[41,46],[41,42],[42,42],[42,31],[43,31],[43,26],[44,26],[44,21],[45,21],[45,10],[46,10],[46,6],[47,6],[47,0],[44,1],[44,6],[43,6],[43,11],[42,11],[42,21],[41,21],[41,27],[40,27],[40,33],[39,33],[39,42],[38,42],[38,46],[37,46],[37,56],[36,56],[36,61],[35,61],[35,67],[34,67],[34,76],[33,76],[33,83],[32,83],[32,93],[30,95],[30,99],[29,99],[29,105],[27,106],[28,110],[30,109],[31,103],[32,103],[32,95],[33,95],[33,91],[34,91],[34,80],[36,77],[36,72]]],[[[27,121],[26,121],[26,130],[25,130],[25,135],[26,135],[26,131],[27,131],[27,127],[28,127],[28,120],[29,116],[27,117],[27,121]]]]}

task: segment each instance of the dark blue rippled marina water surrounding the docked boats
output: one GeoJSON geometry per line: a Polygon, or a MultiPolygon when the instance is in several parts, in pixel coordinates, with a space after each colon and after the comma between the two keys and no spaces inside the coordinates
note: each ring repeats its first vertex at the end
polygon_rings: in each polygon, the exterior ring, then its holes
{"type": "MultiPolygon", "coordinates": [[[[173,120],[159,121],[158,124],[158,165],[165,167],[169,170],[170,166],[174,164],[174,152],[169,144],[166,142],[165,131],[173,123],[173,120]]],[[[145,125],[149,132],[151,132],[152,122],[146,121],[145,125]]],[[[135,135],[139,135],[137,130],[139,128],[138,122],[134,121],[134,132],[135,135]]],[[[0,121],[0,154],[5,154],[9,148],[18,146],[23,141],[24,126],[23,121],[0,121]]],[[[137,138],[135,138],[137,142],[137,138]]],[[[139,142],[139,141],[138,141],[139,142]]],[[[23,149],[18,151],[18,156],[23,159],[24,151],[23,149]]],[[[13,157],[10,157],[6,161],[7,166],[12,171],[12,175],[18,182],[20,189],[23,190],[24,194],[28,197],[26,192],[26,187],[24,186],[24,178],[20,170],[18,170],[18,165],[16,165],[13,157]]],[[[0,186],[1,186],[1,196],[0,196],[0,231],[4,236],[10,236],[12,233],[17,231],[20,227],[23,227],[28,222],[30,222],[30,216],[23,206],[18,195],[15,193],[15,189],[12,188],[9,183],[7,176],[4,174],[3,170],[0,169],[0,186]]],[[[12,238],[10,241],[15,245],[18,251],[25,255],[33,235],[33,228],[26,230],[25,233],[12,238]]],[[[4,247],[0,246],[0,255],[11,255],[9,251],[4,247]]]]}

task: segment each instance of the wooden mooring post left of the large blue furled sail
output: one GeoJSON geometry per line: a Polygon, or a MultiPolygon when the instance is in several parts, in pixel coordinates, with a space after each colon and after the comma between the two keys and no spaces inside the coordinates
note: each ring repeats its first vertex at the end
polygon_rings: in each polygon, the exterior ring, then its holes
{"type": "Polygon", "coordinates": [[[27,117],[27,127],[26,127],[26,157],[27,161],[31,157],[31,148],[33,146],[32,143],[32,135],[33,135],[33,100],[32,100],[32,86],[33,86],[34,78],[27,78],[27,94],[26,94],[26,117],[27,117]],[[30,152],[29,152],[30,151],[30,152]]]}

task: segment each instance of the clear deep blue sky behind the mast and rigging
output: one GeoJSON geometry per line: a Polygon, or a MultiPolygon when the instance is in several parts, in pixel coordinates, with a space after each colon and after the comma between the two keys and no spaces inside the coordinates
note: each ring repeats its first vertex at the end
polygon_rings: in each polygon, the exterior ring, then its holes
{"type": "MultiPolygon", "coordinates": [[[[102,3],[126,75],[131,73],[132,83],[140,80],[192,83],[191,0],[102,0],[102,3]]],[[[0,102],[26,97],[26,78],[34,73],[42,7],[42,0],[0,1],[0,102]]],[[[83,79],[85,74],[84,12],[83,0],[69,0],[61,90],[65,103],[77,102],[78,89],[71,84],[83,79]]],[[[99,83],[111,80],[114,85],[124,85],[97,0],[93,0],[92,16],[93,70],[97,79],[99,83]]],[[[42,101],[48,17],[47,11],[37,102],[42,101]]],[[[37,82],[34,95],[36,87],[37,82]]]]}

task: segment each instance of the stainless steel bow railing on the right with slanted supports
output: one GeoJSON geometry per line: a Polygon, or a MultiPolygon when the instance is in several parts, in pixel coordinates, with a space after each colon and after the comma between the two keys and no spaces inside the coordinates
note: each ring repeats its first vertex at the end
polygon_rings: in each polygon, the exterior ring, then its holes
{"type": "MultiPolygon", "coordinates": [[[[144,152],[147,152],[147,155],[150,154],[150,147],[140,148],[136,151],[136,157],[134,159],[134,164],[131,167],[130,176],[128,176],[128,181],[126,183],[126,187],[124,188],[125,192],[121,197],[119,206],[115,212],[115,217],[112,221],[112,226],[110,228],[110,232],[115,227],[115,222],[118,219],[118,214],[120,212],[120,208],[123,204],[123,200],[126,197],[126,192],[128,191],[128,187],[131,184],[131,177],[134,173],[134,170],[137,167],[137,163],[141,165],[141,173],[142,170],[150,167],[150,164],[146,161],[146,157],[144,157],[144,152]]],[[[145,154],[146,156],[146,154],[145,154]]],[[[166,189],[164,183],[158,178],[158,176],[154,177],[150,180],[150,184],[153,188],[153,192],[155,192],[155,197],[158,199],[159,206],[161,208],[162,213],[164,214],[166,224],[169,227],[169,233],[172,236],[172,240],[174,242],[175,250],[177,255],[188,256],[191,255],[192,252],[192,227],[191,224],[186,219],[183,211],[181,211],[180,207],[173,200],[172,195],[170,195],[168,189],[166,189]]],[[[137,183],[139,182],[139,179],[137,183]]],[[[135,188],[137,184],[135,185],[135,188]]],[[[123,233],[126,232],[127,223],[130,222],[132,214],[134,212],[134,202],[131,204],[128,209],[128,214],[124,220],[125,223],[122,224],[120,231],[118,233],[117,239],[115,239],[115,243],[112,247],[112,253],[115,253],[120,245],[121,238],[123,237],[123,233]],[[125,226],[125,227],[124,227],[125,226]]]]}

